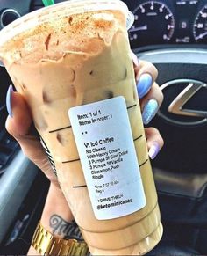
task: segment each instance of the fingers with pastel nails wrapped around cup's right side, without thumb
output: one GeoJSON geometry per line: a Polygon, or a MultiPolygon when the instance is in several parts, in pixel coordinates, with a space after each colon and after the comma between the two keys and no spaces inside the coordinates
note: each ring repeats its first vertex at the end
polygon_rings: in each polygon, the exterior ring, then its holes
{"type": "MultiPolygon", "coordinates": [[[[137,91],[142,111],[142,120],[145,125],[152,121],[163,101],[163,94],[155,80],[157,69],[150,62],[138,62],[137,56],[132,53],[137,91]]],[[[148,154],[151,159],[157,156],[164,142],[156,128],[145,128],[148,154]]]]}

